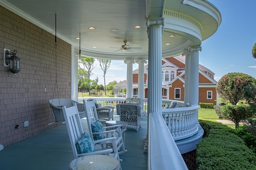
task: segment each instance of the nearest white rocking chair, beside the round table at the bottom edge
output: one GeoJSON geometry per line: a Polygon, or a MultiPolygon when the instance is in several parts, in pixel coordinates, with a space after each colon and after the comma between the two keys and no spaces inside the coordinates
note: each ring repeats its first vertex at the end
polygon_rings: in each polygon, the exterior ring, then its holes
{"type": "MultiPolygon", "coordinates": [[[[107,154],[109,156],[113,156],[111,154],[111,152],[113,152],[113,149],[105,149],[105,150],[96,150],[95,149],[96,151],[94,151],[94,152],[78,154],[76,143],[78,142],[78,140],[81,139],[81,137],[84,134],[84,131],[82,128],[82,124],[80,121],[80,116],[78,113],[76,103],[74,103],[74,106],[68,107],[68,108],[66,108],[66,106],[62,106],[62,111],[63,111],[63,115],[65,118],[67,129],[68,129],[68,136],[70,139],[70,144],[72,147],[74,158],[78,158],[79,156],[85,156],[85,155],[90,155],[90,154],[107,154]]],[[[90,138],[90,136],[89,136],[89,138],[90,138]]],[[[108,142],[111,142],[112,145],[114,146],[114,145],[116,145],[115,139],[116,139],[116,137],[111,137],[108,139],[102,139],[97,142],[104,143],[104,142],[108,141],[108,142]]],[[[92,145],[96,145],[96,142],[92,141],[92,143],[93,143],[92,145]]],[[[114,150],[116,150],[116,152],[117,152],[116,148],[114,148],[114,150]]],[[[114,155],[114,157],[119,160],[118,155],[114,155]]]]}

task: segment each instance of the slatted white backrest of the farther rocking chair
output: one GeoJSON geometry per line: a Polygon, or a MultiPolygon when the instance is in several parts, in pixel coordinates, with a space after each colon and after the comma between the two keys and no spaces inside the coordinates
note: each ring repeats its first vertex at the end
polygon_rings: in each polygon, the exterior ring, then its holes
{"type": "Polygon", "coordinates": [[[83,103],[84,103],[84,110],[85,110],[85,114],[86,114],[86,120],[87,120],[87,124],[88,124],[89,134],[93,140],[91,125],[92,125],[92,123],[95,123],[96,121],[98,121],[96,106],[95,106],[94,101],[86,102],[86,100],[83,100],[83,103]]]}

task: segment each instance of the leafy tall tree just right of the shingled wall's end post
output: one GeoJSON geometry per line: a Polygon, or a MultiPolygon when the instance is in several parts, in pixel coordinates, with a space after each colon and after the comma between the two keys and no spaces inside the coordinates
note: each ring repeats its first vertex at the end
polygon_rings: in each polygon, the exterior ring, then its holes
{"type": "MultiPolygon", "coordinates": [[[[96,67],[96,64],[94,66],[94,59],[93,58],[89,58],[89,57],[81,57],[79,63],[83,64],[84,66],[84,74],[86,75],[86,77],[88,78],[88,85],[89,85],[89,96],[91,95],[90,93],[90,76],[93,75],[92,70],[96,67]]],[[[78,66],[80,67],[80,64],[78,64],[78,66]]]]}

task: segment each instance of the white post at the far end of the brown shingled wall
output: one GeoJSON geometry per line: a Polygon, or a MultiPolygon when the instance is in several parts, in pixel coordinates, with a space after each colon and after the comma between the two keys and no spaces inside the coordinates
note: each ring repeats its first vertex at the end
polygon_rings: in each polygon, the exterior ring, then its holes
{"type": "Polygon", "coordinates": [[[78,99],[78,57],[75,56],[74,45],[71,45],[71,100],[78,99]]]}

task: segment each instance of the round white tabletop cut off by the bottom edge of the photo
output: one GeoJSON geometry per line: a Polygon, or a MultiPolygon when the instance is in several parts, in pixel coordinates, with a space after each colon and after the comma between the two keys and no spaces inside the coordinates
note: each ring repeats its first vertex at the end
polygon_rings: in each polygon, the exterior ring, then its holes
{"type": "Polygon", "coordinates": [[[69,170],[119,170],[120,162],[112,157],[103,154],[92,154],[81,156],[72,160],[69,170]]]}

